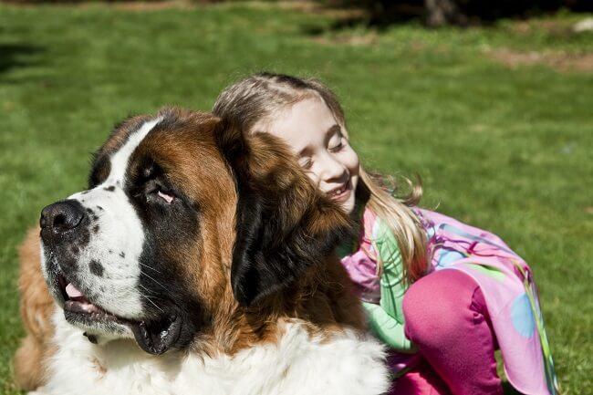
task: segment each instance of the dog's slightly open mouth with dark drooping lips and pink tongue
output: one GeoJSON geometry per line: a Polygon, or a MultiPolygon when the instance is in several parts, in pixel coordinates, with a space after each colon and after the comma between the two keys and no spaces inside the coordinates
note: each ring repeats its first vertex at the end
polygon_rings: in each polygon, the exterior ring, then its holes
{"type": "Polygon", "coordinates": [[[57,286],[64,298],[64,315],[72,325],[103,330],[129,327],[140,348],[154,355],[167,351],[180,337],[182,320],[176,314],[142,320],[118,317],[93,303],[64,275],[57,275],[57,286]]]}

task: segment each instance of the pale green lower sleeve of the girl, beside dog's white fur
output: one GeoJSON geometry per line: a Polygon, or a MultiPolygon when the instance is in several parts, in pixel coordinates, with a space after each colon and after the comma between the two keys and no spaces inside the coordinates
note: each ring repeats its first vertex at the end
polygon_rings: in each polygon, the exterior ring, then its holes
{"type": "Polygon", "coordinates": [[[377,338],[400,352],[416,352],[416,347],[403,332],[403,325],[379,305],[368,302],[363,302],[362,305],[369,316],[370,329],[377,338]]]}

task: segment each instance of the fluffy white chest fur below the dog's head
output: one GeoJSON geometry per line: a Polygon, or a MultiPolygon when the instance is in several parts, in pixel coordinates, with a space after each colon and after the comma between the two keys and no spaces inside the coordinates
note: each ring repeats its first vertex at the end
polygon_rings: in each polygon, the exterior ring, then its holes
{"type": "Polygon", "coordinates": [[[372,338],[345,330],[312,338],[286,323],[276,344],[209,358],[170,352],[160,357],[118,340],[96,346],[57,311],[49,382],[36,395],[278,395],[380,394],[388,389],[384,352],[372,338]]]}

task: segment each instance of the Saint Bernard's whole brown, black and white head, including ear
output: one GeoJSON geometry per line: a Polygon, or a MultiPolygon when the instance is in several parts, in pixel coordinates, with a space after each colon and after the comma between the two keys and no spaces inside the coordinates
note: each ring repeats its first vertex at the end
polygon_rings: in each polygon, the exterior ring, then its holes
{"type": "Polygon", "coordinates": [[[188,346],[225,298],[245,309],[282,295],[349,225],[278,140],[182,109],[121,123],[88,190],[40,221],[68,322],[152,354],[188,346]]]}

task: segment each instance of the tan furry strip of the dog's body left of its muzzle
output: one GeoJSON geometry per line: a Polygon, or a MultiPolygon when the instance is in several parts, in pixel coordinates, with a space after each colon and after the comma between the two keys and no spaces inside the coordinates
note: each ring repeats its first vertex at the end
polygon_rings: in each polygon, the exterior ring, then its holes
{"type": "Polygon", "coordinates": [[[26,338],[16,350],[15,381],[23,390],[36,390],[45,381],[46,360],[53,352],[50,339],[54,332],[50,318],[54,302],[41,274],[38,227],[28,232],[19,252],[18,288],[26,338]]]}

